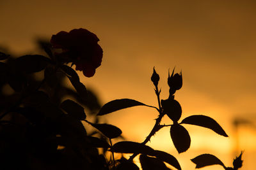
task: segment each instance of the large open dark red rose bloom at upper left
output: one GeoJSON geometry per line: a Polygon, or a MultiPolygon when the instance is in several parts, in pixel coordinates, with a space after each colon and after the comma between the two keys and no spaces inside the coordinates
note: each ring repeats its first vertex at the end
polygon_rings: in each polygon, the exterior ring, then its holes
{"type": "Polygon", "coordinates": [[[52,35],[53,48],[61,48],[57,53],[63,62],[72,62],[76,70],[83,71],[84,76],[91,77],[102,61],[102,48],[98,45],[99,38],[86,29],[72,29],[52,35]]]}

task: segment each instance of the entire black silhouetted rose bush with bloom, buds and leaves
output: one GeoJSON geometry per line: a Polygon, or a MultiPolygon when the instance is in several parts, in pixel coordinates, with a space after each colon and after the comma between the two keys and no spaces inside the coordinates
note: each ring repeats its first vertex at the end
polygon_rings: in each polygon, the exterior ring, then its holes
{"type": "MultiPolygon", "coordinates": [[[[168,74],[170,87],[168,99],[161,99],[155,68],[151,76],[158,106],[149,106],[134,99],[116,99],[100,107],[97,97],[86,89],[76,71],[91,77],[102,61],[99,38],[86,29],[61,31],[53,35],[51,43],[38,41],[44,55],[23,55],[16,59],[0,52],[0,161],[1,169],[139,169],[133,159],[140,154],[143,170],[181,169],[175,157],[147,146],[150,138],[163,127],[170,127],[170,136],[178,153],[186,152],[191,143],[189,132],[182,124],[198,125],[227,137],[226,132],[212,118],[191,115],[180,121],[182,108],[175,100],[175,92],[182,88],[182,73],[168,74]],[[71,66],[68,66],[71,63],[71,66]],[[44,73],[41,81],[35,73],[44,73]],[[72,86],[63,83],[68,78],[72,86]],[[3,92],[9,87],[10,92],[3,92]],[[72,97],[72,99],[67,99],[72,97]],[[110,124],[99,123],[100,116],[133,106],[147,106],[159,115],[154,127],[142,143],[120,141],[122,131],[110,124]],[[84,112],[84,108],[88,112],[84,112]],[[93,122],[88,115],[94,117],[93,122]],[[161,124],[167,115],[171,124],[161,124]],[[88,132],[84,125],[97,131],[88,132]],[[95,134],[97,134],[95,136],[95,134]],[[102,153],[99,148],[103,148],[102,153]],[[108,152],[111,158],[108,159],[108,152]],[[116,159],[115,153],[132,153],[129,159],[116,159]]],[[[192,161],[196,168],[219,164],[224,169],[242,166],[241,155],[234,160],[234,167],[224,164],[211,154],[199,155],[192,161]]]]}

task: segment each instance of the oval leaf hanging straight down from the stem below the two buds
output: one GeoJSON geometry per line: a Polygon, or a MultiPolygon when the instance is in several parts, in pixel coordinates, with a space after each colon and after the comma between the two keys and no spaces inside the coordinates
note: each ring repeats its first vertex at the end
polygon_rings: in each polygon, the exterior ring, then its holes
{"type": "Polygon", "coordinates": [[[186,152],[191,143],[188,131],[182,125],[174,124],[170,129],[170,134],[177,151],[179,153],[186,152]]]}

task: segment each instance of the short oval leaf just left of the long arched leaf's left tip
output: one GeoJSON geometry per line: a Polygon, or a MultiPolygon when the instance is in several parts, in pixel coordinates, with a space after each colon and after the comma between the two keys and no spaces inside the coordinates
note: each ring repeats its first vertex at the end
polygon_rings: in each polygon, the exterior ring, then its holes
{"type": "Polygon", "coordinates": [[[70,99],[63,101],[63,103],[60,104],[60,107],[65,110],[70,117],[78,120],[84,120],[86,118],[84,108],[70,99]]]}

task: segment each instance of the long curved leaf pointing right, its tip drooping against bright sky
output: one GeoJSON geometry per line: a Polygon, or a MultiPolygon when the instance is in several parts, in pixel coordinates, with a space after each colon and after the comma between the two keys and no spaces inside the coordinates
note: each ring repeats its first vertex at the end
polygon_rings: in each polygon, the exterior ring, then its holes
{"type": "Polygon", "coordinates": [[[226,132],[214,119],[204,115],[192,115],[190,117],[186,117],[182,120],[180,124],[191,124],[206,127],[216,132],[217,134],[220,134],[221,136],[228,137],[226,132]]]}

